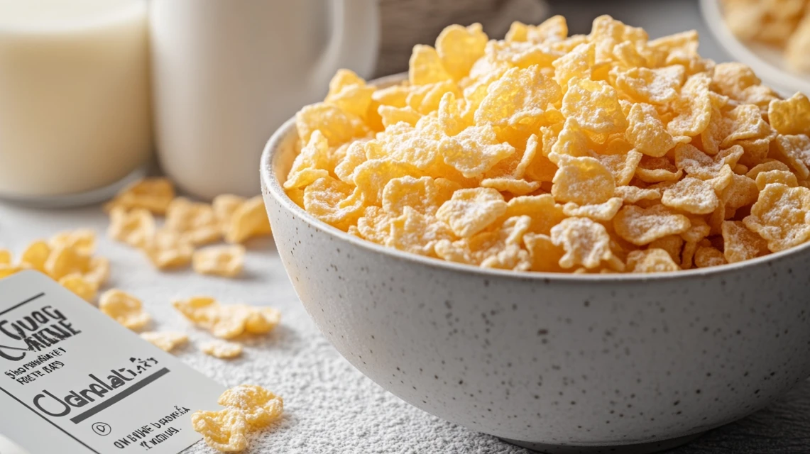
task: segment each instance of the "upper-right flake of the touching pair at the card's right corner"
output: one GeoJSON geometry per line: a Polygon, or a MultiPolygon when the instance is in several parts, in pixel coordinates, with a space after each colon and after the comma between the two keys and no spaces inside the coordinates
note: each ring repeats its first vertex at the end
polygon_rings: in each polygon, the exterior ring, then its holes
{"type": "Polygon", "coordinates": [[[223,392],[218,404],[229,409],[239,409],[245,414],[245,421],[253,428],[271,425],[284,410],[281,396],[254,384],[241,384],[223,392]]]}

